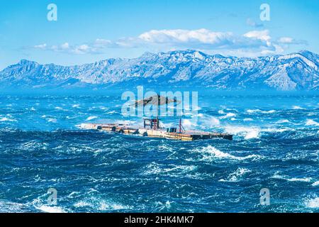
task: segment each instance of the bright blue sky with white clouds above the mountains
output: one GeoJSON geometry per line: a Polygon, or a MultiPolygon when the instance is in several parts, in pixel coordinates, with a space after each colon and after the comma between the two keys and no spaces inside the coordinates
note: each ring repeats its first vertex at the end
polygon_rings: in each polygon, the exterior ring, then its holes
{"type": "Polygon", "coordinates": [[[0,0],[0,69],[196,49],[256,57],[319,52],[317,0],[0,0]],[[47,20],[48,4],[57,21],[47,20]],[[261,21],[261,4],[270,21],[261,21]]]}

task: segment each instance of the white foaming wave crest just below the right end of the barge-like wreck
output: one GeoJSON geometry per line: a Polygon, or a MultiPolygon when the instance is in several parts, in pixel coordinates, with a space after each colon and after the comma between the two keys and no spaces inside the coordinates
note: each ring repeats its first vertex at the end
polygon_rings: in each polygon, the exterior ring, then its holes
{"type": "Polygon", "coordinates": [[[203,160],[211,160],[211,158],[226,158],[226,159],[233,159],[233,160],[246,160],[250,158],[260,157],[259,155],[247,155],[245,157],[237,157],[234,155],[230,155],[228,153],[223,153],[222,151],[214,148],[211,145],[208,145],[207,147],[200,148],[194,150],[197,153],[201,153],[203,155],[203,160]]]}

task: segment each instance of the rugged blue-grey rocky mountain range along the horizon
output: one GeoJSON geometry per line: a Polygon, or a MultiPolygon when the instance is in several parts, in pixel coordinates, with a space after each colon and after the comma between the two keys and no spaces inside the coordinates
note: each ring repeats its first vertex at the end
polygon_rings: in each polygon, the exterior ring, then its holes
{"type": "Polygon", "coordinates": [[[213,89],[319,90],[319,55],[303,50],[269,57],[224,57],[195,50],[145,53],[92,64],[21,60],[0,72],[0,87],[192,86],[213,89]]]}

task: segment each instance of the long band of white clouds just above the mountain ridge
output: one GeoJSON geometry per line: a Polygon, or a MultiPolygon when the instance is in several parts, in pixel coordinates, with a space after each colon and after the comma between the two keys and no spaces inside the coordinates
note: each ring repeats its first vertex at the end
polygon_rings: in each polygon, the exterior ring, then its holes
{"type": "Polygon", "coordinates": [[[98,38],[91,43],[70,45],[35,45],[39,50],[69,52],[72,54],[99,54],[108,48],[146,48],[149,50],[197,49],[208,52],[216,50],[220,53],[246,53],[247,55],[267,55],[283,52],[281,45],[295,44],[289,37],[272,41],[268,30],[249,31],[242,35],[231,32],[216,32],[202,28],[198,30],[152,30],[136,37],[106,40],[98,38]]]}

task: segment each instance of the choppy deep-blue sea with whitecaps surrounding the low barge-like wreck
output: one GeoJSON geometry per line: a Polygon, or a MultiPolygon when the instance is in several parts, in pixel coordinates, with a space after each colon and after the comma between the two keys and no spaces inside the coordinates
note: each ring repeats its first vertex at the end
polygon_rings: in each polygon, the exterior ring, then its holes
{"type": "Polygon", "coordinates": [[[233,141],[78,127],[140,124],[121,115],[122,105],[118,94],[1,95],[0,211],[319,211],[319,95],[199,93],[184,127],[232,133],[233,141]],[[48,204],[50,188],[57,204],[48,204]],[[260,204],[263,188],[269,205],[260,204]]]}

